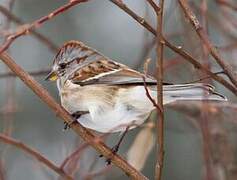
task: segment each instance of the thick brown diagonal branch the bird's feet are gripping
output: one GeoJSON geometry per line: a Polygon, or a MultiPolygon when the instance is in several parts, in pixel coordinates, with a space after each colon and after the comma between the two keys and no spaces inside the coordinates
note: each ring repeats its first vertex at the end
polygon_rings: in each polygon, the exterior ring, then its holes
{"type": "Polygon", "coordinates": [[[110,158],[111,162],[122,169],[127,175],[134,179],[147,179],[143,174],[134,169],[119,155],[114,154],[109,147],[107,147],[100,139],[97,138],[91,131],[84,128],[79,123],[72,123],[74,119],[71,115],[62,108],[50,94],[27,72],[25,72],[13,59],[7,54],[0,55],[2,61],[14,72],[16,75],[39,97],[44,101],[59,117],[66,123],[72,124],[71,128],[94,149],[101,153],[104,157],[110,158]],[[98,141],[95,141],[95,139],[98,141]]]}

